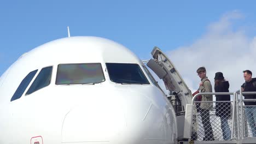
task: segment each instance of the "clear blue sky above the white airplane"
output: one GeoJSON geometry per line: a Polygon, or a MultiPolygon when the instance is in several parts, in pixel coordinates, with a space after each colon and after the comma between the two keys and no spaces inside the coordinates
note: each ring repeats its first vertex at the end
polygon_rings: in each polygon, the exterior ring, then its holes
{"type": "MultiPolygon", "coordinates": [[[[93,35],[111,39],[128,47],[141,59],[149,59],[153,47],[158,46],[174,58],[188,85],[196,88],[198,77],[188,78],[192,75],[187,74],[187,65],[178,60],[183,59],[182,50],[199,50],[195,46],[203,40],[204,43],[211,41],[209,38],[212,37],[207,35],[214,35],[216,27],[221,27],[222,31],[217,35],[218,39],[224,35],[227,39],[231,37],[227,41],[232,43],[242,37],[247,41],[242,44],[253,45],[255,5],[255,1],[3,1],[0,4],[0,75],[22,53],[67,37],[69,26],[71,36],[93,35]]],[[[241,47],[236,53],[245,48],[241,47]]],[[[225,46],[222,49],[226,49],[225,46]]],[[[190,53],[186,59],[190,59],[190,55],[196,54],[190,53]]],[[[246,68],[253,69],[253,65],[246,68]]],[[[193,76],[195,69],[189,69],[193,76]]],[[[210,75],[213,77],[213,74],[214,70],[210,75]]]]}

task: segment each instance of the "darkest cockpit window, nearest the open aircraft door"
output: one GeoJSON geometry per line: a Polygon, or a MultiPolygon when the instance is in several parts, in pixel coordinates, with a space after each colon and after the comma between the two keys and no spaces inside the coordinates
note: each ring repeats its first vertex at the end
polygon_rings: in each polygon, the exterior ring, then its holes
{"type": "Polygon", "coordinates": [[[149,84],[138,64],[106,63],[110,80],[116,83],[149,84]]]}

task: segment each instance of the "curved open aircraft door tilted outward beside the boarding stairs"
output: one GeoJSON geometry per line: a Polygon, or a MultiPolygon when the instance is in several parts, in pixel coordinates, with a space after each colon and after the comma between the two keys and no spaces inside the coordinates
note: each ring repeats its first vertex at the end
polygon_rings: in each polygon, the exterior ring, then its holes
{"type": "MultiPolygon", "coordinates": [[[[191,104],[192,100],[190,89],[174,67],[174,64],[158,47],[154,47],[151,54],[154,59],[150,59],[147,66],[158,75],[159,79],[164,81],[166,88],[170,91],[170,95],[174,96],[173,99],[179,99],[178,102],[182,108],[180,110],[176,109],[176,113],[185,111],[185,106],[191,104]]],[[[176,103],[173,105],[176,105],[176,103]]]]}

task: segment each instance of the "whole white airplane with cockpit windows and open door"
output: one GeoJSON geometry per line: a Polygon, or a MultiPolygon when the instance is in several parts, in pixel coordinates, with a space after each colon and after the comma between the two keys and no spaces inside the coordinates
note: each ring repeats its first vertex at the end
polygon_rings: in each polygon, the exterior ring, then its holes
{"type": "Polygon", "coordinates": [[[0,143],[178,143],[192,95],[158,47],[152,56],[169,95],[112,40],[67,37],[24,53],[0,77],[0,143]]]}

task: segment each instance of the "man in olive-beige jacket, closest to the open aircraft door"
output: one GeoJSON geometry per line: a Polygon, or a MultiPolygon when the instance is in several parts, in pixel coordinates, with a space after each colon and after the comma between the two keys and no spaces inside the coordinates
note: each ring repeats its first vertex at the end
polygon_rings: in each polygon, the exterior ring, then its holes
{"type": "MultiPolygon", "coordinates": [[[[199,83],[199,89],[201,93],[210,93],[212,92],[212,85],[210,80],[208,80],[206,76],[205,67],[200,67],[196,70],[197,75],[201,78],[201,82],[199,83]]],[[[201,101],[212,101],[212,95],[202,95],[201,101]]],[[[201,117],[203,129],[205,129],[205,137],[203,137],[203,141],[214,141],[212,125],[210,123],[210,110],[212,110],[212,103],[206,102],[201,103],[201,117]]]]}

